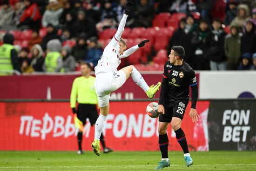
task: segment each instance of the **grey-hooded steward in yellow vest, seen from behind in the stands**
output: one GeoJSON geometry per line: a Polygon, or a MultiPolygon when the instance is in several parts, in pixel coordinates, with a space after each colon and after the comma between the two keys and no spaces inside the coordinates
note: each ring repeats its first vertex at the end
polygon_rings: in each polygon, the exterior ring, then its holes
{"type": "Polygon", "coordinates": [[[63,60],[61,57],[61,41],[52,39],[47,43],[47,55],[43,64],[45,72],[64,72],[63,60]]]}

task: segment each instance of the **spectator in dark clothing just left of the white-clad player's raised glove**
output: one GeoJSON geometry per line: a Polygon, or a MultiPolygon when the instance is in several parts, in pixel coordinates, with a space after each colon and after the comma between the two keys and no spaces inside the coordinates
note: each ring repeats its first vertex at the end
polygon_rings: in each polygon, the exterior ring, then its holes
{"type": "Polygon", "coordinates": [[[105,0],[104,8],[101,13],[101,21],[96,24],[98,31],[105,28],[115,28],[117,26],[117,14],[114,7],[112,7],[110,0],[105,0]]]}

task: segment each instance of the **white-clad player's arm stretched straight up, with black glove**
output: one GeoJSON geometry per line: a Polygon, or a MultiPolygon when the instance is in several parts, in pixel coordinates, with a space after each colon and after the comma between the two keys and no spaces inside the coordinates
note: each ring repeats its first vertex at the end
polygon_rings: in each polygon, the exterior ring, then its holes
{"type": "Polygon", "coordinates": [[[121,39],[121,35],[123,33],[123,30],[124,30],[126,19],[127,19],[128,15],[130,14],[131,10],[133,9],[133,6],[134,6],[134,4],[133,4],[132,1],[128,1],[125,5],[123,17],[120,21],[117,32],[115,33],[115,36],[113,38],[116,41],[120,41],[120,39],[121,39]]]}

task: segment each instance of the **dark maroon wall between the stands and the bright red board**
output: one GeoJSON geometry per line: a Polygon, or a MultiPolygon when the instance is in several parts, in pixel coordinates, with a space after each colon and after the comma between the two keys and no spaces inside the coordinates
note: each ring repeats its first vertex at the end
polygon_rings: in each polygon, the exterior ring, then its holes
{"type": "MultiPolygon", "coordinates": [[[[162,74],[143,74],[148,85],[162,81],[162,74]]],[[[0,77],[0,99],[46,99],[47,87],[52,99],[69,99],[72,83],[78,75],[30,75],[0,77]]],[[[197,74],[197,82],[199,77],[197,74]]],[[[159,98],[159,92],[155,98],[159,98]]],[[[112,100],[148,99],[147,95],[129,78],[112,93],[112,100]]]]}

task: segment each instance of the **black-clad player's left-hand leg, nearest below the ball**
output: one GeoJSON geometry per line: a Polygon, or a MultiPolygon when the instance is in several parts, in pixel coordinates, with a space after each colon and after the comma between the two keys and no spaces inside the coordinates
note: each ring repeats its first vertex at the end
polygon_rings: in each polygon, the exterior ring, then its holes
{"type": "Polygon", "coordinates": [[[168,122],[159,122],[158,143],[159,143],[160,151],[162,154],[162,160],[159,162],[155,170],[162,170],[165,167],[169,167],[171,164],[168,158],[168,144],[169,144],[169,139],[167,135],[168,124],[169,124],[168,122]]]}

